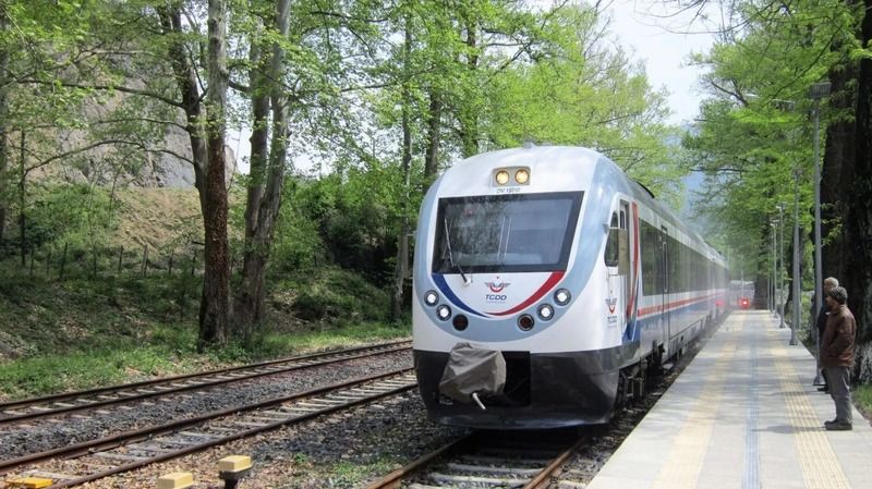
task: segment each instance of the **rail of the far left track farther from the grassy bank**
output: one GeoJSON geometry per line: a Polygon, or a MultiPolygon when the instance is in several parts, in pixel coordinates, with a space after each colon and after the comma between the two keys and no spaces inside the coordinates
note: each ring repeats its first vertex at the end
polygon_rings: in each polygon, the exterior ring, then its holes
{"type": "MultiPolygon", "coordinates": [[[[376,355],[383,355],[383,354],[386,354],[386,353],[393,353],[393,352],[408,350],[408,346],[397,346],[397,344],[399,344],[399,343],[408,343],[408,342],[396,342],[396,343],[390,343],[390,344],[385,344],[385,345],[371,345],[371,346],[367,346],[367,347],[353,349],[351,351],[341,351],[341,352],[331,352],[331,353],[324,353],[324,354],[316,354],[316,355],[306,355],[305,357],[289,358],[289,359],[284,359],[284,360],[271,360],[271,362],[268,363],[269,365],[253,364],[253,365],[243,366],[243,367],[232,367],[232,369],[202,372],[202,374],[198,374],[198,375],[189,375],[189,376],[186,376],[187,378],[184,379],[184,380],[189,380],[190,381],[192,378],[195,378],[195,377],[208,378],[210,376],[218,376],[218,375],[221,375],[221,374],[226,374],[226,372],[228,372],[230,370],[234,370],[234,371],[244,370],[244,369],[253,369],[253,370],[255,370],[255,371],[249,372],[249,374],[246,374],[244,376],[241,376],[241,377],[207,380],[207,381],[196,382],[196,383],[186,383],[186,384],[183,384],[183,386],[177,386],[177,387],[172,387],[172,388],[169,388],[169,389],[161,389],[161,390],[154,391],[154,392],[137,392],[136,394],[133,394],[133,395],[122,395],[121,394],[122,392],[131,389],[130,387],[125,387],[125,388],[122,388],[122,389],[117,389],[117,387],[116,388],[95,389],[94,391],[114,392],[119,396],[116,398],[116,399],[104,399],[104,400],[100,400],[100,401],[87,402],[87,403],[80,404],[80,405],[69,405],[69,406],[50,408],[50,409],[47,408],[47,409],[43,409],[43,411],[33,411],[33,412],[28,412],[28,413],[14,414],[14,415],[11,415],[11,416],[0,417],[0,426],[8,425],[8,424],[11,424],[11,423],[17,423],[17,421],[22,421],[22,420],[27,420],[27,419],[49,417],[49,416],[55,416],[55,415],[59,415],[59,414],[75,413],[75,412],[80,412],[80,411],[88,411],[88,409],[94,409],[96,407],[105,407],[105,406],[116,405],[116,404],[126,404],[126,403],[130,403],[130,402],[133,402],[133,401],[140,401],[140,400],[149,399],[149,398],[156,398],[156,396],[160,396],[160,395],[174,394],[174,393],[179,393],[179,392],[186,392],[186,391],[192,391],[192,390],[205,390],[205,389],[209,389],[209,388],[213,388],[213,387],[222,386],[222,384],[227,384],[227,383],[241,382],[241,381],[245,381],[245,380],[256,379],[256,378],[259,378],[259,377],[287,374],[289,371],[300,370],[300,369],[303,369],[303,368],[314,368],[314,367],[319,367],[319,366],[324,366],[324,365],[330,365],[330,364],[346,362],[346,360],[355,359],[355,358],[365,358],[365,357],[368,357],[368,356],[376,356],[376,355]],[[364,352],[364,353],[353,354],[353,353],[356,353],[356,352],[364,352]],[[322,359],[319,362],[317,360],[318,358],[329,358],[329,357],[336,357],[336,358],[322,359]],[[315,363],[306,363],[307,360],[316,360],[316,362],[315,363]],[[300,362],[303,362],[303,363],[300,363],[300,362]],[[282,367],[282,368],[269,369],[269,370],[256,370],[258,368],[264,368],[264,367],[267,367],[267,366],[271,367],[271,366],[275,366],[275,365],[278,365],[278,364],[281,364],[281,363],[298,363],[298,364],[296,365],[290,365],[288,367],[282,367]]],[[[164,379],[164,380],[160,380],[160,381],[154,381],[154,382],[152,382],[152,387],[155,388],[156,384],[158,384],[158,386],[159,384],[172,384],[172,383],[174,383],[174,381],[178,381],[178,377],[177,378],[169,378],[169,379],[172,379],[172,380],[164,379]]],[[[137,382],[137,383],[141,383],[141,382],[137,382]]],[[[124,384],[124,386],[131,386],[131,384],[124,384]]],[[[72,396],[72,398],[68,398],[68,399],[73,399],[73,398],[78,399],[78,398],[84,398],[84,395],[77,395],[77,396],[72,396]]],[[[58,402],[58,401],[53,401],[53,402],[58,402]]],[[[44,402],[33,403],[27,407],[33,407],[33,406],[37,406],[37,405],[41,405],[41,404],[44,404],[44,402]]],[[[21,408],[21,407],[19,407],[19,408],[21,408]]],[[[7,411],[9,411],[9,409],[7,409],[7,411]]]]}

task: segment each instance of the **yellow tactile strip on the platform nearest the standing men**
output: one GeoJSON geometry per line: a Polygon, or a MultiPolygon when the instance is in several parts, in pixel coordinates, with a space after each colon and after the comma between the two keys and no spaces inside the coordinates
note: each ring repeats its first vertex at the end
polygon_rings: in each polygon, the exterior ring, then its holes
{"type": "Polygon", "coordinates": [[[826,438],[823,421],[812,408],[808,393],[802,389],[799,376],[787,356],[787,351],[775,340],[775,334],[768,331],[766,342],[775,357],[775,369],[784,392],[790,425],[794,427],[794,440],[806,487],[850,489],[851,486],[841,470],[836,453],[826,438]]]}

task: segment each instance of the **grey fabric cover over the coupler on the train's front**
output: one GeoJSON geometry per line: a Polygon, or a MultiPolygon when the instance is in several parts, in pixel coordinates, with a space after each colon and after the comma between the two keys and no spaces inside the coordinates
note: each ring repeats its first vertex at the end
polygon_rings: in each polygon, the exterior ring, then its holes
{"type": "Polygon", "coordinates": [[[472,394],[497,395],[506,386],[506,359],[496,350],[458,343],[448,355],[439,392],[455,401],[472,402],[472,394]]]}

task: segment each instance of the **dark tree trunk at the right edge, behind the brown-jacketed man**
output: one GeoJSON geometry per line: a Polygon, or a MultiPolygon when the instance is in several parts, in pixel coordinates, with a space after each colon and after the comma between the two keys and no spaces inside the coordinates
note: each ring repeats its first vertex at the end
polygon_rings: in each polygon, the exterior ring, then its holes
{"type": "MultiPolygon", "coordinates": [[[[860,35],[862,46],[872,39],[872,0],[864,0],[865,15],[860,35]]],[[[872,381],[872,60],[860,61],[857,80],[856,166],[845,201],[846,260],[843,279],[848,290],[848,306],[857,320],[857,362],[855,374],[863,383],[872,381]]],[[[845,181],[843,173],[843,181],[845,181]]]]}

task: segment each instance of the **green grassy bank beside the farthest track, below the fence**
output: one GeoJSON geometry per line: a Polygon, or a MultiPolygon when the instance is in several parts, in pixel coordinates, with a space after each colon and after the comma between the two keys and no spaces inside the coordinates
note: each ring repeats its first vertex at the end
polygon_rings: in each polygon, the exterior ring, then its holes
{"type": "Polygon", "coordinates": [[[274,293],[268,321],[255,338],[203,354],[196,353],[199,281],[187,276],[65,282],[5,276],[0,278],[0,400],[408,337],[408,326],[387,325],[384,313],[372,317],[372,310],[387,307],[385,294],[347,273],[325,269],[308,277],[317,286],[307,289],[305,310],[325,307],[329,315],[300,320],[294,301],[274,293]],[[349,291],[341,299],[330,286],[338,283],[349,291]]]}

